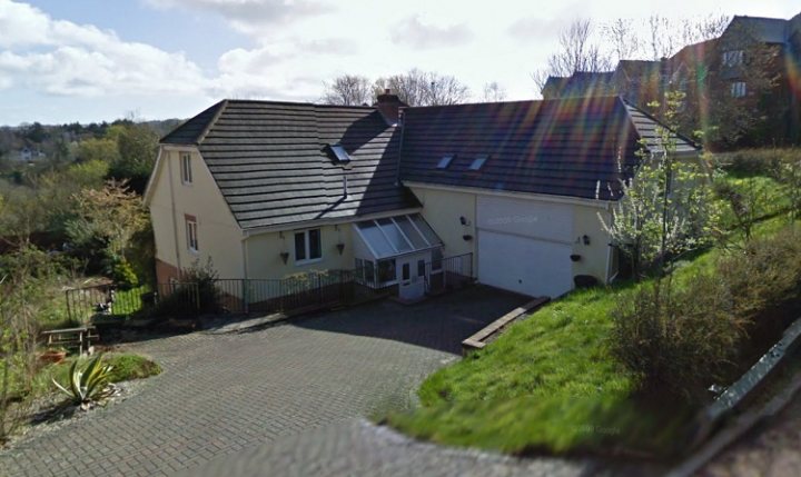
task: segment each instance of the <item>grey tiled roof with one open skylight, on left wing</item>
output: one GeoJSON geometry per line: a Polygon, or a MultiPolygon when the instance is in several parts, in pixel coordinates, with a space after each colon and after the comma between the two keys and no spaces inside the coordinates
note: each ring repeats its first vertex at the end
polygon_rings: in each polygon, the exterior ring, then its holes
{"type": "Polygon", "coordinates": [[[226,100],[161,143],[197,145],[243,229],[419,207],[396,185],[399,130],[369,107],[226,100]],[[334,163],[334,143],[349,169],[334,163]]]}

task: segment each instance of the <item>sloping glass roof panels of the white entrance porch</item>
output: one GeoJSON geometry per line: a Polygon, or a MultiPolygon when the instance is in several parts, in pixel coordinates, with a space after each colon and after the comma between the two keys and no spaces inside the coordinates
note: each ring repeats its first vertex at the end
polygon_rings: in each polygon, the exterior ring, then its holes
{"type": "Polygon", "coordinates": [[[375,258],[394,257],[442,245],[419,213],[356,222],[356,231],[375,258]]]}

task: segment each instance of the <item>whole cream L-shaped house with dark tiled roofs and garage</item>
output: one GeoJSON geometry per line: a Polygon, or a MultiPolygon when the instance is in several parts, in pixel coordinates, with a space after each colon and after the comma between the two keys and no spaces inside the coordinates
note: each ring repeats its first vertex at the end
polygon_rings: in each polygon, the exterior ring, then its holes
{"type": "MultiPolygon", "coordinates": [[[[478,281],[558,296],[607,281],[597,215],[656,121],[617,97],[404,108],[226,100],[167,135],[148,185],[159,282],[355,269],[414,299],[454,257],[478,281]],[[475,272],[473,272],[475,271],[475,272]]],[[[679,150],[698,149],[681,139],[679,150]]]]}

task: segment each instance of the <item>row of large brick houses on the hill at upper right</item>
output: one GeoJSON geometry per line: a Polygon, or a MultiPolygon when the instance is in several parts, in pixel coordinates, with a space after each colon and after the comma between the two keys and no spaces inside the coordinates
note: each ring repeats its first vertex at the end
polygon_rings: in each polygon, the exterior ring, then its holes
{"type": "Polygon", "coordinates": [[[734,17],[720,38],[689,44],[656,61],[621,60],[613,71],[550,77],[543,98],[620,95],[646,108],[664,93],[686,93],[694,127],[710,115],[759,118],[749,140],[801,141],[801,13],[790,20],[734,17]],[[725,109],[723,109],[725,108],[725,109]],[[762,120],[763,119],[763,120],[762,120]]]}

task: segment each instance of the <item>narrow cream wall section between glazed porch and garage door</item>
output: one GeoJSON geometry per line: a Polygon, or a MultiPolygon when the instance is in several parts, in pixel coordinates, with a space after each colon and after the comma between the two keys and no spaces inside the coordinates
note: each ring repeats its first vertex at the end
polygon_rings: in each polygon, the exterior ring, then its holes
{"type": "Polygon", "coordinates": [[[443,256],[473,254],[473,274],[475,274],[476,195],[419,187],[411,187],[411,189],[423,205],[421,215],[445,242],[443,256]],[[459,221],[461,217],[464,217],[468,225],[463,226],[459,221]],[[473,239],[465,240],[466,235],[472,236],[473,239]]]}

